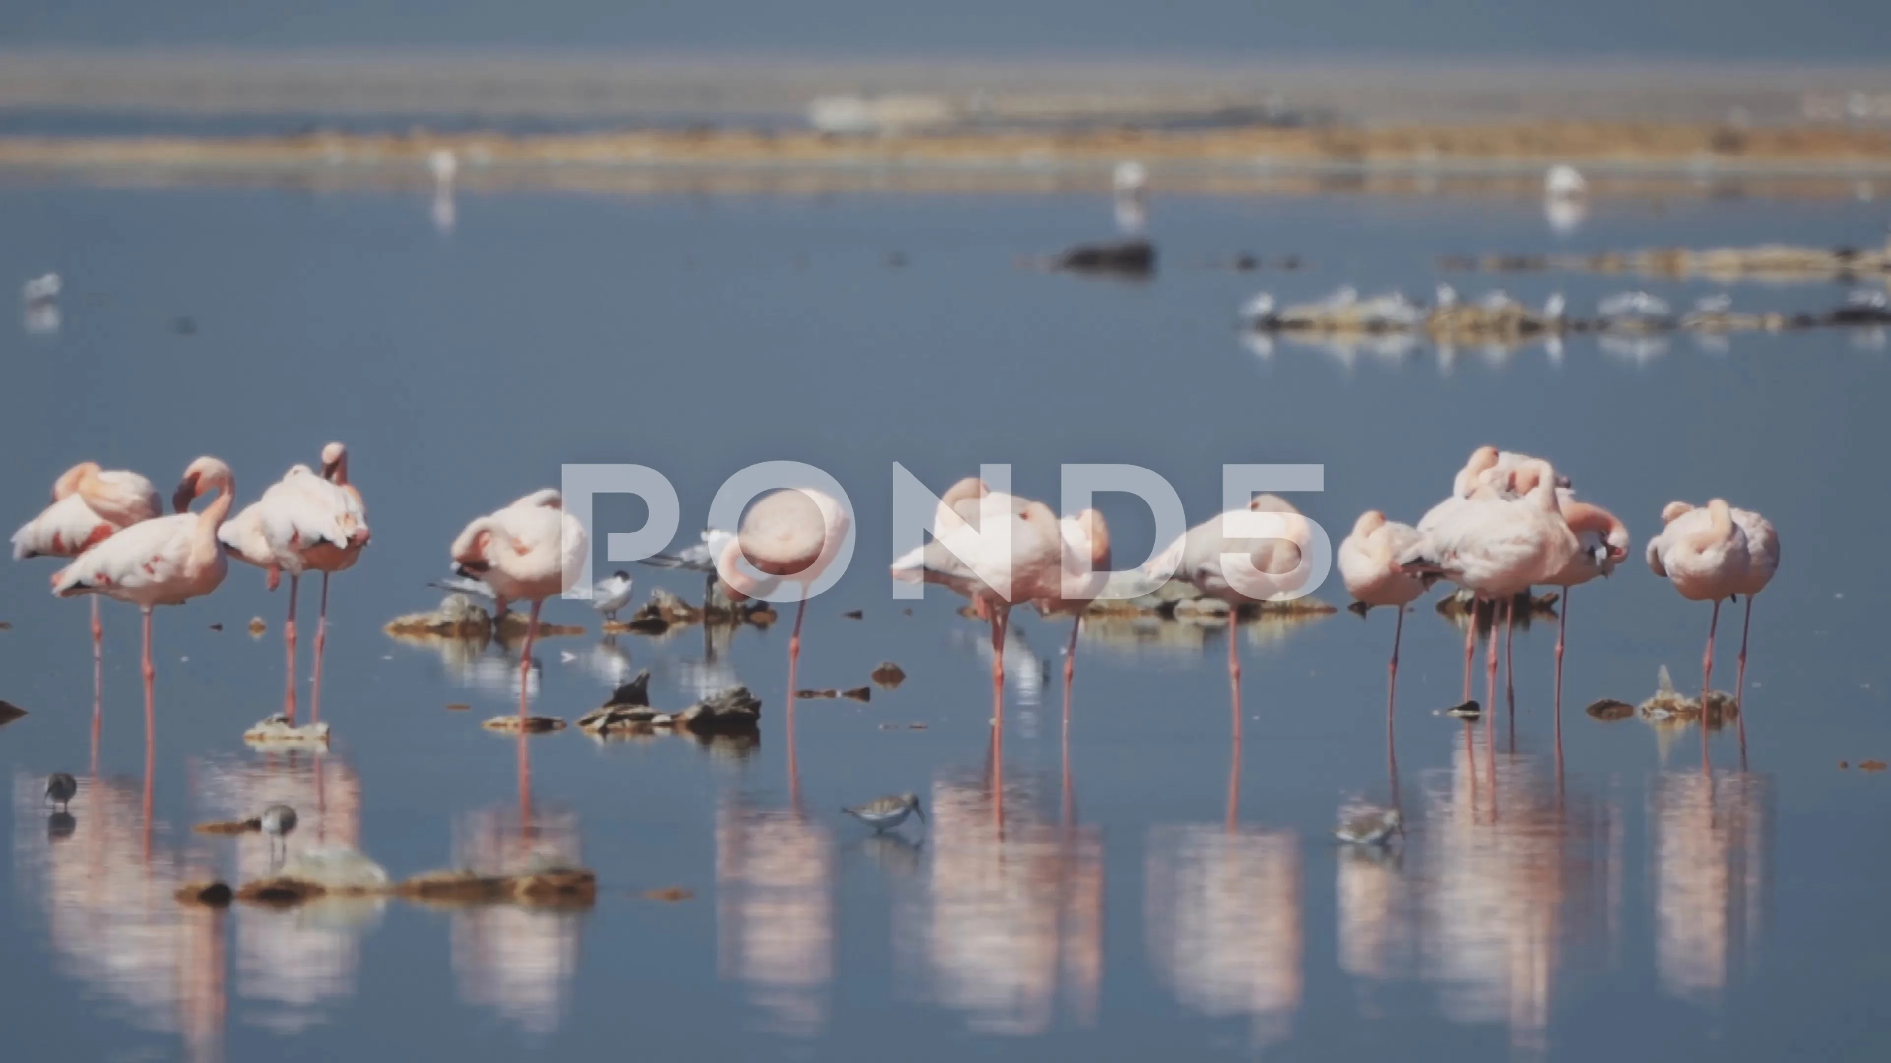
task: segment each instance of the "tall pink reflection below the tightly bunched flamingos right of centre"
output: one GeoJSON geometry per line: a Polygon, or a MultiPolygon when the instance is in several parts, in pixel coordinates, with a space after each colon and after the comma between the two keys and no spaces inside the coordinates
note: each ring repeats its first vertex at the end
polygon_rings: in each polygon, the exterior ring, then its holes
{"type": "Polygon", "coordinates": [[[1619,811],[1568,800],[1537,757],[1494,757],[1481,777],[1456,741],[1424,791],[1420,976],[1449,1019],[1505,1023],[1513,1050],[1541,1055],[1566,944],[1613,951],[1619,811]]]}

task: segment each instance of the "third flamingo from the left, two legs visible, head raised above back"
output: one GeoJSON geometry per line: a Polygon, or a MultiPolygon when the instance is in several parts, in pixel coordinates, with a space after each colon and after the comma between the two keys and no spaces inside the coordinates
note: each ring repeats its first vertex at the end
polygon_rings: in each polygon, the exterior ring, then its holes
{"type": "MultiPolygon", "coordinates": [[[[293,465],[282,480],[270,484],[263,497],[246,505],[229,524],[217,530],[217,539],[242,562],[269,573],[267,584],[276,590],[282,573],[289,573],[289,615],[282,626],[287,653],[284,679],[284,717],[295,724],[295,613],[303,571],[321,571],[321,622],[316,628],[316,658],[327,628],[327,577],[352,567],[369,541],[367,509],[359,492],[346,484],[346,448],[331,443],[321,452],[323,475],[308,465],[293,465]],[[342,484],[329,480],[342,477],[342,484]]],[[[320,668],[320,666],[318,666],[320,668]]],[[[320,679],[318,679],[320,683],[320,679]]]]}

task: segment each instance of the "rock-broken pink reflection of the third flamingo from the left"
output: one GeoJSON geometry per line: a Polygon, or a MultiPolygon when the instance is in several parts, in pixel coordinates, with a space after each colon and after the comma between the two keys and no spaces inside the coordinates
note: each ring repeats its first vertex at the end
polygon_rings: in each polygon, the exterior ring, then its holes
{"type": "MultiPolygon", "coordinates": [[[[191,779],[208,819],[248,819],[272,804],[293,808],[297,827],[284,840],[289,853],[361,845],[361,779],[337,757],[216,758],[195,764],[191,779]]],[[[269,849],[263,834],[238,836],[229,881],[274,874],[280,861],[269,849]]],[[[323,898],[293,912],[236,906],[236,995],[261,1004],[246,1010],[244,1019],[276,1033],[321,1023],[323,1004],[354,993],[361,938],[384,906],[374,898],[323,898]]]]}

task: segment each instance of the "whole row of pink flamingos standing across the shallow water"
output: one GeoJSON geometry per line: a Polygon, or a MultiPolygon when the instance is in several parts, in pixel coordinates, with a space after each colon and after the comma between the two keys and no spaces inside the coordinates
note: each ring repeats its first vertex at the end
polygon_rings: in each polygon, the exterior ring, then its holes
{"type": "MultiPolygon", "coordinates": [[[[155,668],[151,664],[151,615],[159,605],[182,605],[214,592],[227,575],[227,558],[261,567],[276,590],[289,577],[284,620],[286,683],[284,717],[297,713],[297,600],[304,573],[321,573],[321,605],[316,628],[316,671],[310,717],[320,721],[321,654],[327,632],[329,577],[356,566],[371,541],[367,507],[348,479],[348,448],[321,448],[320,465],[293,465],[242,511],[234,509],[236,482],[217,458],[199,458],[185,467],[172,496],[176,513],[163,503],[151,480],[130,471],[106,471],[93,462],[74,465],[53,484],[53,503],[13,535],[13,556],[70,558],[53,575],[61,598],[93,598],[95,662],[102,656],[102,624],[96,598],[136,605],[144,615],[146,726],[153,728],[155,668]],[[199,499],[208,505],[191,511],[199,499]]],[[[1779,567],[1779,535],[1761,514],[1725,499],[1706,505],[1683,501],[1662,511],[1664,530],[1647,543],[1649,567],[1666,577],[1691,601],[1709,601],[1713,613],[1702,654],[1704,688],[1713,679],[1713,641],[1721,603],[1745,596],[1740,637],[1740,687],[1745,685],[1747,636],[1753,598],[1779,567]]],[[[741,528],[705,532],[703,543],[677,556],[651,558],[666,567],[707,571],[732,600],[772,598],[798,601],[789,637],[789,688],[802,651],[802,619],[813,584],[828,571],[849,541],[851,518],[834,497],[811,490],[777,490],[756,499],[741,528]],[[783,584],[800,594],[775,598],[783,584]]],[[[1254,496],[1246,507],[1216,514],[1184,532],[1150,562],[1127,573],[1110,573],[1110,532],[1101,513],[1084,511],[1059,518],[1034,499],[1025,499],[968,477],[940,497],[934,537],[896,558],[898,581],[932,583],[970,601],[991,626],[995,724],[1004,726],[1004,647],[1012,607],[1029,603],[1040,617],[1072,617],[1065,653],[1065,698],[1076,673],[1076,641],[1091,600],[1112,575],[1129,577],[1135,594],[1165,579],[1193,584],[1203,598],[1227,605],[1227,671],[1233,740],[1240,740],[1240,651],[1235,624],[1244,605],[1297,598],[1318,566],[1310,564],[1318,526],[1292,503],[1271,494],[1254,496]]],[[[1339,573],[1362,609],[1392,607],[1386,717],[1396,706],[1403,613],[1437,581],[1469,592],[1473,617],[1464,653],[1464,698],[1469,704],[1471,664],[1479,628],[1484,647],[1486,704],[1496,698],[1498,628],[1511,656],[1518,596],[1535,586],[1560,590],[1556,628],[1556,713],[1562,711],[1562,664],[1570,594],[1575,586],[1607,577],[1628,556],[1628,528],[1607,509],[1579,499],[1568,477],[1543,460],[1479,446],[1452,477],[1450,496],[1416,524],[1367,511],[1354,522],[1337,550],[1339,573]],[[1488,617],[1488,624],[1481,624],[1488,617]]],[[[531,649],[546,598],[573,586],[588,558],[582,524],[564,511],[558,490],[539,490],[465,526],[448,554],[463,586],[480,586],[503,613],[511,603],[529,603],[529,622],[520,653],[520,715],[528,711],[531,649]]],[[[616,573],[599,584],[596,607],[607,615],[630,603],[632,581],[616,573]]],[[[96,732],[96,700],[95,700],[96,732]]],[[[1742,747],[1745,745],[1742,721],[1742,747]]]]}

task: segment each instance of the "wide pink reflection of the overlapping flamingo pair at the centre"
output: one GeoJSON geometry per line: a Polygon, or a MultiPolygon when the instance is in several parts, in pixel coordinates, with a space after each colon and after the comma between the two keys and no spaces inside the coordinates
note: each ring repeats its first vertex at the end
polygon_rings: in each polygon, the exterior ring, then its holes
{"type": "MultiPolygon", "coordinates": [[[[1097,1018],[1102,987],[1102,834],[1044,815],[1027,785],[932,785],[925,889],[896,900],[894,961],[913,989],[987,1035],[1097,1018]],[[997,808],[998,802],[1006,808],[997,808]]],[[[1067,804],[1068,811],[1068,804],[1067,804]]]]}

